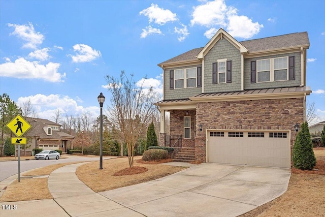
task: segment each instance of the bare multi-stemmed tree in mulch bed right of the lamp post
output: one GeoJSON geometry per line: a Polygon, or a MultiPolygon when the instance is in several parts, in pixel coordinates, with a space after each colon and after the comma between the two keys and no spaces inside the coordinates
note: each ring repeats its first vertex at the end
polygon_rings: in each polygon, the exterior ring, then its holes
{"type": "Polygon", "coordinates": [[[142,84],[136,84],[133,80],[127,78],[124,71],[121,72],[119,79],[107,75],[108,90],[111,92],[111,105],[108,115],[113,125],[120,129],[127,145],[127,155],[129,167],[133,167],[134,148],[143,132],[146,132],[152,116],[156,111],[153,103],[157,102],[159,97],[153,88],[143,89],[142,84]]]}

